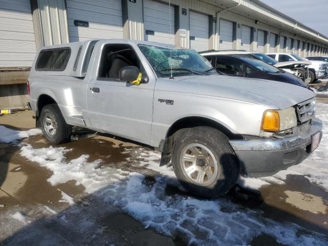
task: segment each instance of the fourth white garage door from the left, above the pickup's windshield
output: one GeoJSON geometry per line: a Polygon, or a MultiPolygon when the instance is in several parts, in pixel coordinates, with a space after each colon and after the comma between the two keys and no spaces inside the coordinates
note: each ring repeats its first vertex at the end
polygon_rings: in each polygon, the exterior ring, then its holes
{"type": "Polygon", "coordinates": [[[209,50],[209,16],[189,12],[190,48],[196,51],[209,50]]]}

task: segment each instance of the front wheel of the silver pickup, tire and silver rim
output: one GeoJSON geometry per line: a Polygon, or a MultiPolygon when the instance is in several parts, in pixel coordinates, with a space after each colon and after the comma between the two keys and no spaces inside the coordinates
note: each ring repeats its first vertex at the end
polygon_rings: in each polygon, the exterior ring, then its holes
{"type": "Polygon", "coordinates": [[[239,162],[228,138],[210,127],[182,132],[173,145],[172,165],[180,183],[203,197],[226,194],[239,176],[239,162]]]}

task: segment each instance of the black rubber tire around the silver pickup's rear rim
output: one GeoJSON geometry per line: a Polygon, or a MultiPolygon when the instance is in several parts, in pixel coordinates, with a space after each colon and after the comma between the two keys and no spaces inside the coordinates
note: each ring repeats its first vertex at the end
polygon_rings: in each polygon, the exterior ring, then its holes
{"type": "Polygon", "coordinates": [[[43,107],[40,114],[40,122],[41,122],[41,129],[44,136],[52,144],[58,145],[70,139],[72,134],[72,126],[66,123],[63,114],[61,114],[60,112],[58,105],[48,104],[45,107],[43,107]],[[57,128],[54,135],[50,135],[45,129],[45,116],[47,114],[50,114],[55,120],[57,128]]]}

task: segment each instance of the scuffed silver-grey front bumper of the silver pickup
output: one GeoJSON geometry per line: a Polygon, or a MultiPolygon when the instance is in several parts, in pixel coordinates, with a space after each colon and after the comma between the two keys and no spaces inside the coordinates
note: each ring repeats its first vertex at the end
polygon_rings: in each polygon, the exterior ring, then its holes
{"type": "Polygon", "coordinates": [[[242,173],[254,177],[271,176],[280,170],[302,162],[311,154],[312,136],[320,133],[322,122],[313,119],[308,131],[285,138],[261,138],[230,140],[242,173]]]}

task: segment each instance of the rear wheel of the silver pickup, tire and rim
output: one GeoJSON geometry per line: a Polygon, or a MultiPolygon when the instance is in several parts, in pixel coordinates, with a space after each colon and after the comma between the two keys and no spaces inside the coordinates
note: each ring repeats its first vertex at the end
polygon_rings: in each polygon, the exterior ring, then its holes
{"type": "Polygon", "coordinates": [[[53,144],[57,145],[70,139],[72,126],[66,124],[56,104],[49,104],[43,107],[40,121],[43,134],[53,144]]]}

